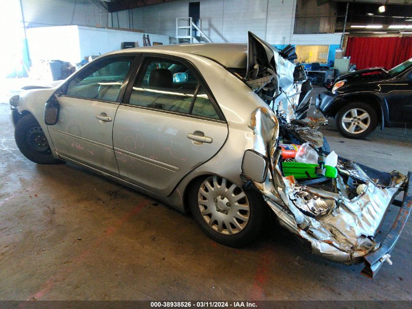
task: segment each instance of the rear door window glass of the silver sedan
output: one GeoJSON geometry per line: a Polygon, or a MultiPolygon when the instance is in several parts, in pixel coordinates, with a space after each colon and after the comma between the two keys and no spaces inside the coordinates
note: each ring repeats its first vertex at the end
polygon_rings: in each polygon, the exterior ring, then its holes
{"type": "Polygon", "coordinates": [[[143,62],[129,104],[220,119],[191,69],[170,59],[150,57],[143,62]]]}

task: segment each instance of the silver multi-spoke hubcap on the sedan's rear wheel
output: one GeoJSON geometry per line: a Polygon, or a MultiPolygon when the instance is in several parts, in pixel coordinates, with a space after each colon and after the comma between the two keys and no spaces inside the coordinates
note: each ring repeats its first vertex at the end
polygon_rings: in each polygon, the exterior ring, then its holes
{"type": "Polygon", "coordinates": [[[250,206],[245,192],[225,178],[206,178],[200,185],[197,200],[203,219],[219,233],[236,234],[249,221],[250,206]]]}

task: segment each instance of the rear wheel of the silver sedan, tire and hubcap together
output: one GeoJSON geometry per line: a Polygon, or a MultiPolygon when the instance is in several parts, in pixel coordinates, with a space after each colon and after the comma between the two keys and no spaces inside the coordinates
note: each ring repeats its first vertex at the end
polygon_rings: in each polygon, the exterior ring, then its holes
{"type": "Polygon", "coordinates": [[[196,180],[189,195],[190,210],[202,231],[229,247],[241,247],[256,238],[264,223],[263,203],[255,191],[219,176],[196,180]]]}

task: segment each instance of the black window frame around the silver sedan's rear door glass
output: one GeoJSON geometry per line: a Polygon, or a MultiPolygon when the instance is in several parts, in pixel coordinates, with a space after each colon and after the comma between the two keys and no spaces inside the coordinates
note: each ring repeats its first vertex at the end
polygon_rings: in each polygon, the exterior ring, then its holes
{"type": "Polygon", "coordinates": [[[196,118],[196,119],[202,119],[202,120],[208,120],[208,121],[214,121],[214,122],[227,124],[227,121],[226,121],[219,105],[216,103],[216,99],[213,96],[212,91],[210,90],[208,84],[205,82],[202,75],[200,74],[200,72],[197,70],[196,66],[192,62],[190,62],[190,61],[188,61],[184,58],[180,58],[180,57],[172,56],[172,55],[166,55],[166,54],[160,54],[160,53],[143,53],[140,56],[140,58],[139,58],[139,60],[136,64],[136,67],[133,70],[132,76],[133,77],[131,77],[130,80],[128,81],[126,91],[125,91],[124,96],[123,96],[123,100],[120,103],[121,105],[136,107],[136,108],[141,108],[141,109],[147,109],[147,110],[153,110],[153,111],[157,111],[157,112],[161,112],[161,113],[169,113],[169,114],[174,114],[174,115],[180,115],[180,116],[185,116],[185,117],[190,117],[190,118],[196,118]],[[130,102],[130,97],[131,97],[131,94],[132,94],[133,86],[136,82],[141,82],[142,79],[144,78],[144,74],[146,73],[144,64],[145,64],[146,60],[150,60],[150,59],[166,59],[166,60],[171,60],[171,61],[177,61],[177,62],[180,62],[183,65],[185,65],[189,70],[192,70],[193,74],[195,75],[195,77],[197,79],[197,85],[196,85],[194,97],[195,97],[195,95],[197,95],[198,88],[201,86],[203,88],[203,91],[208,96],[210,103],[212,103],[213,107],[215,108],[216,114],[219,117],[219,119],[190,114],[192,112],[193,105],[194,105],[196,100],[192,101],[191,106],[190,106],[190,113],[189,114],[188,113],[170,111],[170,110],[162,110],[162,109],[158,109],[158,108],[154,108],[154,107],[147,107],[147,106],[139,106],[139,105],[136,105],[136,104],[130,104],[129,102],[130,102]]]}

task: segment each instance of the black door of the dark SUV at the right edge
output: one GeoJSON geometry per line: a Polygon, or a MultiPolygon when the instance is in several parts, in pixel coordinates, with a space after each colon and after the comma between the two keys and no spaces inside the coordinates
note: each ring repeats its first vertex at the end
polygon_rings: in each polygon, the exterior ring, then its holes
{"type": "Polygon", "coordinates": [[[412,123],[412,69],[399,78],[388,104],[392,124],[412,123]]]}

